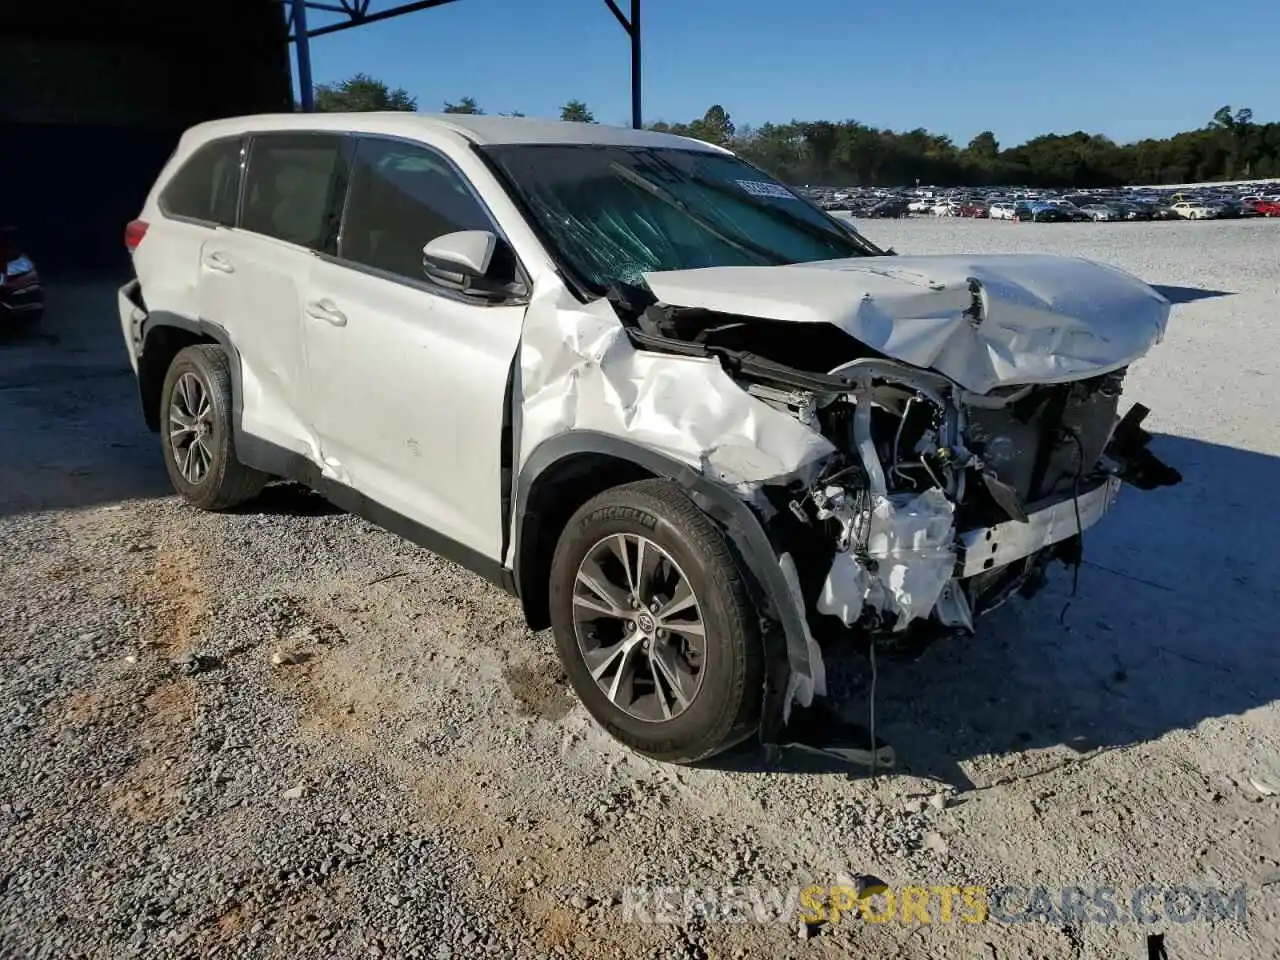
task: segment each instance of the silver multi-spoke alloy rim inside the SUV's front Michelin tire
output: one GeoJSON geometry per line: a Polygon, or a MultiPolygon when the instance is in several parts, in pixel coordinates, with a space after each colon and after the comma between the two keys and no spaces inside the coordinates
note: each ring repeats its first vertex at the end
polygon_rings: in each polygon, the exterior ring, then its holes
{"type": "Polygon", "coordinates": [[[701,689],[701,607],[680,564],[645,536],[612,534],[586,552],[573,581],[573,630],[596,686],[636,719],[673,719],[701,689]]]}

